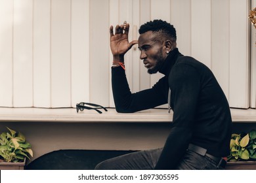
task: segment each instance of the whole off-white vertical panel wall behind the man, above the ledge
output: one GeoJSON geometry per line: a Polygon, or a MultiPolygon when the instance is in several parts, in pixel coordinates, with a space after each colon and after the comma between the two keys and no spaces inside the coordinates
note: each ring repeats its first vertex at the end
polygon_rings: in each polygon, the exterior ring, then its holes
{"type": "MultiPolygon", "coordinates": [[[[255,107],[255,56],[249,53],[247,18],[255,2],[250,4],[249,0],[1,0],[0,106],[75,107],[79,101],[89,101],[114,107],[110,25],[129,22],[132,41],[138,39],[141,24],[161,18],[176,27],[182,54],[213,71],[231,107],[248,108],[250,99],[255,107]]],[[[162,76],[148,75],[139,54],[135,45],[125,56],[132,92],[150,88],[162,76]]]]}

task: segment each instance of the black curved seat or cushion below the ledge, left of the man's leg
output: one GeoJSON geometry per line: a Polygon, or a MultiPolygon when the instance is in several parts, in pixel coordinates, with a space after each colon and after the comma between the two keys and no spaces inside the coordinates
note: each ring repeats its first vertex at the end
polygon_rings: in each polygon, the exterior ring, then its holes
{"type": "Polygon", "coordinates": [[[105,159],[133,151],[58,150],[45,154],[26,165],[27,170],[93,170],[105,159]]]}

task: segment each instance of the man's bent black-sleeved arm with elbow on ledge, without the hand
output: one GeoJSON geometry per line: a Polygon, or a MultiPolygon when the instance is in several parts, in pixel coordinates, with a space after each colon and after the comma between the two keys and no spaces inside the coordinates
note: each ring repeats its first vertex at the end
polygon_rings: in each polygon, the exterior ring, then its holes
{"type": "Polygon", "coordinates": [[[125,71],[122,67],[112,67],[112,91],[117,112],[137,112],[167,103],[167,78],[148,90],[131,93],[125,71]]]}

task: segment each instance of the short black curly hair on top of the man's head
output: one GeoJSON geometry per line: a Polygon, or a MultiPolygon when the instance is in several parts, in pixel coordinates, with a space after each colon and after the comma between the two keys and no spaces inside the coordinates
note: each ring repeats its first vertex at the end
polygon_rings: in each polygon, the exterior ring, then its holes
{"type": "Polygon", "coordinates": [[[146,33],[147,31],[158,32],[165,38],[173,39],[172,41],[177,40],[175,27],[163,20],[153,20],[140,26],[140,34],[146,33]]]}

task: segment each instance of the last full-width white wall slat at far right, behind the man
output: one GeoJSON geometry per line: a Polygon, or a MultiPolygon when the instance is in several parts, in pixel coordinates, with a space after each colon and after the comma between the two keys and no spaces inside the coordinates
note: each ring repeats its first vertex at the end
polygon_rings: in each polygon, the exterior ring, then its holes
{"type": "Polygon", "coordinates": [[[230,85],[231,107],[249,107],[249,24],[247,0],[230,1],[230,85]]]}

